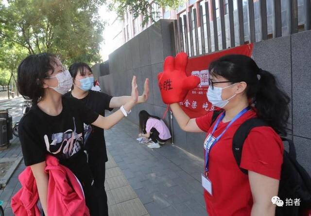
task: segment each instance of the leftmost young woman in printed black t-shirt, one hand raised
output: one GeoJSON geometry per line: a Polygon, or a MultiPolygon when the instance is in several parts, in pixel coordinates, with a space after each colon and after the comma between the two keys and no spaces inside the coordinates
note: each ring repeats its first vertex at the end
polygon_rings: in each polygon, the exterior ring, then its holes
{"type": "Polygon", "coordinates": [[[19,138],[26,166],[35,176],[43,211],[47,213],[48,175],[45,158],[51,154],[80,180],[91,215],[97,215],[92,177],[83,152],[83,123],[109,129],[138,103],[136,77],[132,94],[120,110],[108,117],[97,114],[74,98],[62,97],[72,86],[72,77],[55,55],[42,53],[26,57],[17,69],[18,90],[33,107],[21,119],[19,138]],[[93,200],[92,200],[93,199],[93,200]]]}

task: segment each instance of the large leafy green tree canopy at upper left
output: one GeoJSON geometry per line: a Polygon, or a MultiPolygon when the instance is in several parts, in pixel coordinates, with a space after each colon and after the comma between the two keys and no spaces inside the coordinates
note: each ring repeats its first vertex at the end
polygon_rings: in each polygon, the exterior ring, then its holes
{"type": "Polygon", "coordinates": [[[28,54],[50,52],[69,65],[100,62],[104,0],[8,0],[0,3],[0,41],[28,54]]]}

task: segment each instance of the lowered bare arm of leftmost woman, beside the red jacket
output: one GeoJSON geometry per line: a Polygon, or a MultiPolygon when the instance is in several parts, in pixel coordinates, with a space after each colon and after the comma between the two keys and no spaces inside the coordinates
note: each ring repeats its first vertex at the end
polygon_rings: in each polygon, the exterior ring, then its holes
{"type": "Polygon", "coordinates": [[[31,165],[31,170],[35,176],[38,194],[44,214],[48,216],[47,201],[48,201],[49,175],[44,171],[46,166],[47,166],[46,162],[36,163],[34,165],[31,165]]]}

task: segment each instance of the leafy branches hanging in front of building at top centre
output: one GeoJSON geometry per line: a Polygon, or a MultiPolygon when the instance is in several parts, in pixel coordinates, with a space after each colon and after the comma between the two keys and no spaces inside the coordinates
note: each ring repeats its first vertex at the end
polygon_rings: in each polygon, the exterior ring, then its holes
{"type": "MultiPolygon", "coordinates": [[[[140,14],[143,16],[142,26],[149,20],[155,22],[155,18],[159,16],[157,12],[153,12],[150,5],[151,0],[108,0],[109,9],[117,12],[120,18],[124,18],[126,11],[133,13],[133,17],[137,18],[140,14]]],[[[180,5],[186,3],[186,0],[154,0],[155,5],[170,9],[177,9],[180,5]]]]}

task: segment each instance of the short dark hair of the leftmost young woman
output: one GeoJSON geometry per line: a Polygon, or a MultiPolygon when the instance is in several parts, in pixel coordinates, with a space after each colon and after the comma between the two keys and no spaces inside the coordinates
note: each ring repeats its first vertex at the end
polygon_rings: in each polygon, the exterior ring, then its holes
{"type": "Polygon", "coordinates": [[[57,64],[57,57],[50,53],[28,55],[21,61],[17,68],[17,88],[23,97],[36,104],[44,95],[43,80],[48,76],[48,71],[57,64]]]}

